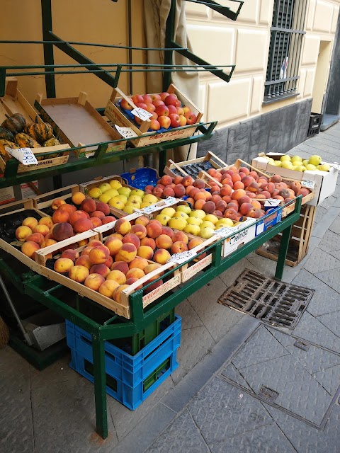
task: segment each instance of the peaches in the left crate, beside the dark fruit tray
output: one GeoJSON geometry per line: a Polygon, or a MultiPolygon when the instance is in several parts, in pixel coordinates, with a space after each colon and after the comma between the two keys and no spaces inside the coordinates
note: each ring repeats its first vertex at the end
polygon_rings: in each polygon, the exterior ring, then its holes
{"type": "Polygon", "coordinates": [[[71,205],[62,198],[52,201],[52,217],[45,216],[37,220],[26,217],[16,229],[16,239],[23,242],[21,251],[29,258],[34,258],[40,248],[69,239],[74,234],[83,233],[103,224],[113,222],[107,203],[95,202],[86,198],[84,193],[72,195],[71,205]],[[79,209],[77,209],[77,206],[79,209]]]}

